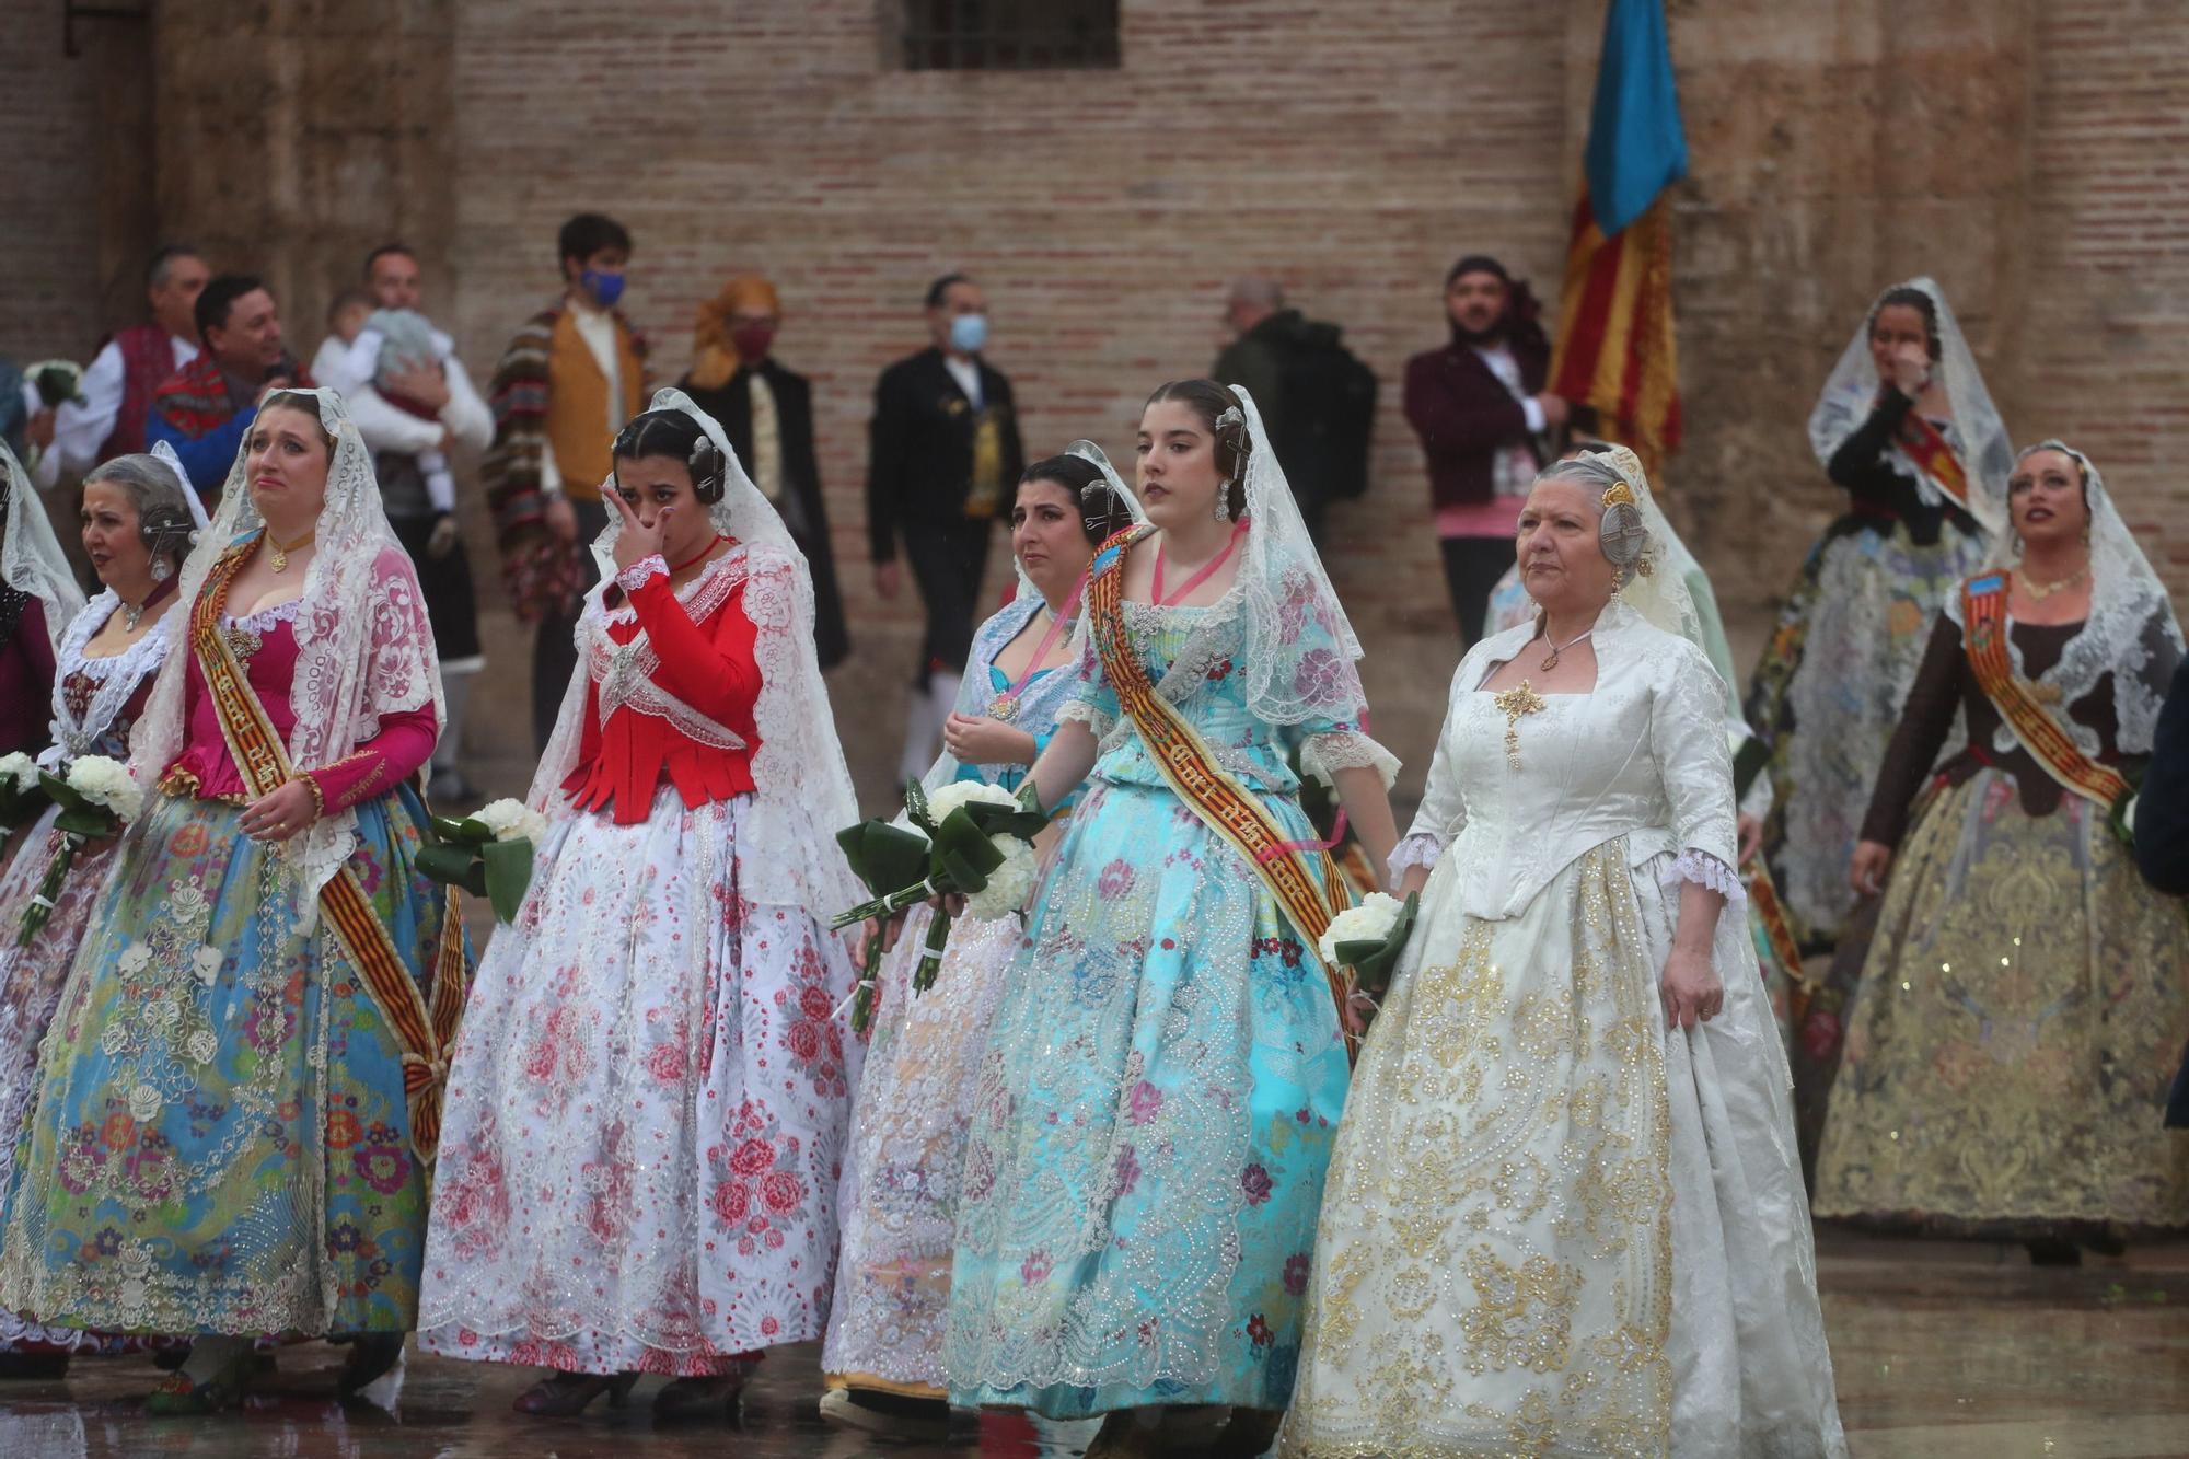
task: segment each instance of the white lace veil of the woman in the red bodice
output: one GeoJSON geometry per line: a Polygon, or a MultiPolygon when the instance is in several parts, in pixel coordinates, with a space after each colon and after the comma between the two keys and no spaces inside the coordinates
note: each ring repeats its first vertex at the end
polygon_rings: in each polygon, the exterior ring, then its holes
{"type": "MultiPolygon", "coordinates": [[[[681,410],[714,440],[722,453],[722,499],[707,515],[716,532],[736,537],[744,548],[744,613],[757,629],[760,703],[753,721],[760,749],[753,754],[753,815],[744,822],[753,843],[742,848],[740,887],[757,903],[814,911],[849,907],[865,894],[836,848],[836,832],[858,822],[858,797],[814,657],[814,587],[806,556],[744,473],[720,421],[683,390],[659,390],[650,410],[681,410]]],[[[604,563],[602,581],[587,594],[578,620],[578,673],[563,694],[563,712],[528,795],[532,808],[552,819],[571,813],[563,782],[578,767],[584,732],[587,640],[606,631],[604,596],[615,583],[613,554],[622,526],[622,515],[611,513],[606,530],[593,539],[593,556],[604,563]]]]}

